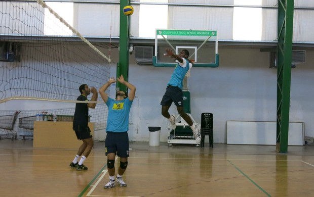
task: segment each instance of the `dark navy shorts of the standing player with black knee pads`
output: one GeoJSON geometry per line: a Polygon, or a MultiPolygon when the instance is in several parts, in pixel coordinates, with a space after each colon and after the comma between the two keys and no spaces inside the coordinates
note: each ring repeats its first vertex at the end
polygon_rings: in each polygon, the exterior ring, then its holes
{"type": "Polygon", "coordinates": [[[114,153],[118,157],[129,157],[128,132],[107,132],[105,139],[105,153],[114,153]]]}

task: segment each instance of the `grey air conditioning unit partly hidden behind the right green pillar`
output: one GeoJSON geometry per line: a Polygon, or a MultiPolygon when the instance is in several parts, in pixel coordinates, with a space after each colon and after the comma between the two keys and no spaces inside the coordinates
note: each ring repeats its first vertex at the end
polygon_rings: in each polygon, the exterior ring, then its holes
{"type": "MultiPolygon", "coordinates": [[[[305,63],[305,50],[292,50],[291,68],[295,68],[297,64],[305,63]]],[[[278,54],[277,52],[270,52],[269,54],[269,68],[277,68],[278,54]]]]}

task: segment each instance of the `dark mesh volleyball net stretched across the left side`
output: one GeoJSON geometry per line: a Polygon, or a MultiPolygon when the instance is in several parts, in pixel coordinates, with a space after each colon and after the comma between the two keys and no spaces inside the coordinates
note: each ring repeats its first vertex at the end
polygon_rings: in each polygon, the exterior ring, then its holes
{"type": "MultiPolygon", "coordinates": [[[[78,87],[98,90],[110,77],[110,57],[100,50],[110,52],[110,47],[90,43],[41,0],[0,2],[0,116],[34,101],[45,104],[21,110],[18,119],[37,112],[72,116],[78,87]],[[14,100],[18,104],[8,109],[14,100]],[[67,107],[56,109],[55,102],[67,107]]],[[[95,130],[105,128],[107,108],[101,101],[99,96],[96,108],[89,110],[95,130]]],[[[17,129],[19,134],[31,130],[17,129]]]]}

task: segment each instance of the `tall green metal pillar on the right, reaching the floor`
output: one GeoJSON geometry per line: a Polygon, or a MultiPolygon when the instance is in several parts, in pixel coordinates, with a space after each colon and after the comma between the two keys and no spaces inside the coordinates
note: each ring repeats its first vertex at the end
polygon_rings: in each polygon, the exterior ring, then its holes
{"type": "Polygon", "coordinates": [[[294,0],[278,1],[277,143],[288,152],[294,0]]]}

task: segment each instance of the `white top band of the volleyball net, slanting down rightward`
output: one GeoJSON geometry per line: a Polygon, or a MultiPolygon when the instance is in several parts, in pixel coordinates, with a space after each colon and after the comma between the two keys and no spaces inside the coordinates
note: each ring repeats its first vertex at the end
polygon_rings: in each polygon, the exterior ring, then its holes
{"type": "Polygon", "coordinates": [[[80,37],[84,42],[86,42],[90,47],[92,47],[99,55],[105,58],[108,62],[111,62],[109,58],[107,58],[103,53],[101,53],[98,48],[96,48],[91,42],[89,42],[85,37],[81,35],[76,29],[74,29],[71,25],[69,25],[62,17],[60,17],[53,9],[51,9],[43,0],[37,0],[37,3],[43,6],[43,8],[47,8],[51,14],[53,14],[57,19],[59,19],[62,23],[65,24],[73,33],[75,33],[78,37],[80,37]]]}

